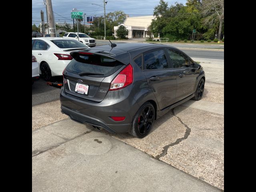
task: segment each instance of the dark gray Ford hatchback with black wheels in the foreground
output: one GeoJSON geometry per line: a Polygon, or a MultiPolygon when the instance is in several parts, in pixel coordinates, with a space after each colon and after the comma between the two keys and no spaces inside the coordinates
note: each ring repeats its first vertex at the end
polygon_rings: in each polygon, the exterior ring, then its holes
{"type": "Polygon", "coordinates": [[[63,72],[62,113],[109,132],[143,138],[154,120],[204,92],[203,68],[172,46],[117,43],[71,56],[63,72]]]}

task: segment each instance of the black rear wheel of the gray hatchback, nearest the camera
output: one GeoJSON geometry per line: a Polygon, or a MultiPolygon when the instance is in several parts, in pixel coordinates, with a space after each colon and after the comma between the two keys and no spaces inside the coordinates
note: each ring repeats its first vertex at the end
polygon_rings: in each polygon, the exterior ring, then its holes
{"type": "Polygon", "coordinates": [[[132,120],[132,128],[129,134],[137,138],[147,136],[154,124],[155,114],[154,106],[150,102],[144,103],[132,120]]]}

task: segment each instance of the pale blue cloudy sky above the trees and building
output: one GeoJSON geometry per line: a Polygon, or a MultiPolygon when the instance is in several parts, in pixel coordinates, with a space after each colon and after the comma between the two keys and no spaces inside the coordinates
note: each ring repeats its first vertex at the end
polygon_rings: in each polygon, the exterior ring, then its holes
{"type": "MultiPolygon", "coordinates": [[[[71,10],[76,8],[78,11],[86,13],[87,16],[103,16],[104,15],[104,0],[52,0],[52,10],[54,12],[56,23],[73,23],[71,19],[71,10]],[[92,5],[92,4],[98,4],[92,5]],[[101,7],[102,6],[102,7],[101,7]]],[[[168,6],[175,2],[186,5],[186,0],[165,0],[168,6]]],[[[153,15],[154,7],[157,6],[160,0],[105,0],[106,14],[118,10],[124,11],[130,17],[153,15]]],[[[43,0],[32,0],[32,25],[38,26],[41,22],[40,11],[44,12],[44,21],[46,21],[46,7],[43,0]]]]}

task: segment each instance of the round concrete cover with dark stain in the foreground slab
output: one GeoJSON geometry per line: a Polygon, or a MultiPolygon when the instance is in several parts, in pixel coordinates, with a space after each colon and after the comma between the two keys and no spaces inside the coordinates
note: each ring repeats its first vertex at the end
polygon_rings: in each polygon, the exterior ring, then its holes
{"type": "Polygon", "coordinates": [[[100,155],[108,152],[112,143],[105,137],[94,137],[78,145],[78,150],[84,155],[100,155]]]}

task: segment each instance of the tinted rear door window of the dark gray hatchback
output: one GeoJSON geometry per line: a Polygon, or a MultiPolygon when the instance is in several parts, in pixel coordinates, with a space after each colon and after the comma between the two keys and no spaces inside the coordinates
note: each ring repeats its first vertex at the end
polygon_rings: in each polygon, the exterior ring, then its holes
{"type": "Polygon", "coordinates": [[[164,50],[155,50],[144,54],[146,69],[168,69],[168,62],[164,50]]]}

